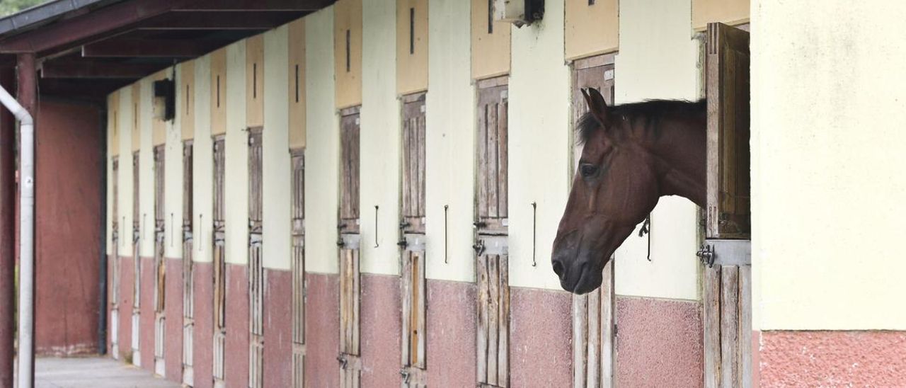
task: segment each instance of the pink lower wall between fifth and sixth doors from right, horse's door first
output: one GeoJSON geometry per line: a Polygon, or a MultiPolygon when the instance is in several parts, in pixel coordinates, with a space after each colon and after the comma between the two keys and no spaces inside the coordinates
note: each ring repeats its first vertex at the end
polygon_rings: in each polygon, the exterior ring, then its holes
{"type": "Polygon", "coordinates": [[[305,274],[305,386],[340,385],[340,290],[336,274],[305,274]]]}

